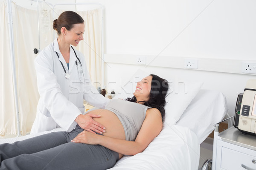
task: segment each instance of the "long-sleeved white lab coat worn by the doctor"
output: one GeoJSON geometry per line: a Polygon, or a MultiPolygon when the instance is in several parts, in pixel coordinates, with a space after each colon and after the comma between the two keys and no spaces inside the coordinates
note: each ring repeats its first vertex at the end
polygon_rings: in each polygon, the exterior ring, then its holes
{"type": "Polygon", "coordinates": [[[84,77],[79,61],[71,47],[69,69],[67,68],[67,63],[59,50],[57,38],[35,58],[40,99],[31,133],[52,130],[56,127],[62,127],[70,132],[77,125],[74,121],[76,117],[84,113],[83,99],[99,108],[105,108],[108,103],[109,99],[99,94],[91,85],[83,54],[79,51],[76,51],[76,54],[81,61],[84,77]],[[65,70],[69,72],[70,79],[65,78],[60,61],[65,70]]]}

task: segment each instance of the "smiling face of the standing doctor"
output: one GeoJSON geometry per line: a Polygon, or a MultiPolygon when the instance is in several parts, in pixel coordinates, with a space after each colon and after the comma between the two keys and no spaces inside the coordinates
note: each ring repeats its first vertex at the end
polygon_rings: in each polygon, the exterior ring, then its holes
{"type": "Polygon", "coordinates": [[[84,23],[74,24],[70,30],[66,31],[65,39],[67,43],[77,46],[83,38],[84,23]]]}

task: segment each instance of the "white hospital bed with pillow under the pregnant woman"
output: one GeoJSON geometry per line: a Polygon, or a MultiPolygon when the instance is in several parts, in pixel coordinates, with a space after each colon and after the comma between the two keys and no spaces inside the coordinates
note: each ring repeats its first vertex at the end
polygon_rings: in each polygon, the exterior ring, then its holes
{"type": "MultiPolygon", "coordinates": [[[[200,144],[227,113],[225,96],[218,91],[201,89],[201,83],[187,85],[184,94],[173,91],[167,96],[166,120],[163,130],[142,152],[134,156],[123,156],[109,170],[198,170],[200,144]]],[[[116,95],[116,98],[124,96],[116,95]]],[[[38,136],[1,139],[0,143],[15,142],[38,136]]]]}

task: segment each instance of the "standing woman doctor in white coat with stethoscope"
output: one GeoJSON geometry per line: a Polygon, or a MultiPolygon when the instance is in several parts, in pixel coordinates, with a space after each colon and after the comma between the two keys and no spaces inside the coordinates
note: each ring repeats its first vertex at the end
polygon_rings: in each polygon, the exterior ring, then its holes
{"type": "Polygon", "coordinates": [[[83,54],[71,46],[84,40],[84,20],[76,12],[65,11],[53,21],[53,28],[58,38],[35,58],[40,99],[31,133],[56,127],[70,132],[78,124],[102,134],[105,127],[92,119],[100,116],[82,114],[83,99],[99,108],[105,108],[109,99],[91,85],[83,54]]]}

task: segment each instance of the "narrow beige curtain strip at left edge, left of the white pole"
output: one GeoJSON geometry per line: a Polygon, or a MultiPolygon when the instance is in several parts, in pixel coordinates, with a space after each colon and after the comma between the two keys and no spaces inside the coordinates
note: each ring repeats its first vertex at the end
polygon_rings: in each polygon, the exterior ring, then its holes
{"type": "Polygon", "coordinates": [[[0,135],[15,134],[15,105],[6,2],[0,2],[0,135]],[[3,24],[7,23],[7,24],[3,24]]]}

